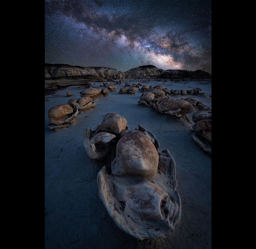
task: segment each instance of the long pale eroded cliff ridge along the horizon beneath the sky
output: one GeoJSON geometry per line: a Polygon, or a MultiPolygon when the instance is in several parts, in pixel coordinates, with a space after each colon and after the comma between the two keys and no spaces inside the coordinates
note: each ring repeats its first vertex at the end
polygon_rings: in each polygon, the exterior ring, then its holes
{"type": "Polygon", "coordinates": [[[153,65],[144,65],[128,71],[117,71],[108,67],[80,67],[67,64],[45,63],[45,79],[93,78],[93,79],[150,79],[150,78],[211,78],[202,70],[163,70],[153,65]]]}

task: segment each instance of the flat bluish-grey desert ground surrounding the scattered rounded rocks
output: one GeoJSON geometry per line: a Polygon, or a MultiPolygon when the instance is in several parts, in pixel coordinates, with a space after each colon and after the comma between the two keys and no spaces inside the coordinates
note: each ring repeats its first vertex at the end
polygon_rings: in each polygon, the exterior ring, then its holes
{"type": "MultiPolygon", "coordinates": [[[[171,97],[196,97],[211,108],[211,79],[121,81],[107,96],[96,98],[94,108],[79,113],[74,123],[55,130],[48,127],[49,109],[68,103],[70,98],[80,98],[88,82],[45,81],[45,249],[210,249],[211,157],[191,136],[193,113],[187,114],[190,122],[179,121],[139,105],[142,94],[139,89],[135,95],[118,92],[126,82],[153,87],[161,84],[178,90],[199,87],[205,94],[171,97]],[[57,89],[52,90],[52,85],[57,89]],[[73,96],[68,97],[67,91],[73,96]],[[167,149],[175,160],[181,219],[165,238],[138,240],[126,234],[116,226],[99,198],[97,174],[104,163],[88,157],[83,147],[83,132],[86,128],[95,130],[107,113],[123,116],[129,130],[143,126],[158,139],[160,151],[167,149]]],[[[100,83],[89,82],[92,87],[100,87],[100,83]]]]}

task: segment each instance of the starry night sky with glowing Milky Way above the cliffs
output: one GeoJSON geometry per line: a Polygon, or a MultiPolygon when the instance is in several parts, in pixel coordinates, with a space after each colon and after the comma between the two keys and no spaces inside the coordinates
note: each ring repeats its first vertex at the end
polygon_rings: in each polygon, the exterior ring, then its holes
{"type": "Polygon", "coordinates": [[[45,63],[211,74],[211,0],[45,0],[45,63]]]}

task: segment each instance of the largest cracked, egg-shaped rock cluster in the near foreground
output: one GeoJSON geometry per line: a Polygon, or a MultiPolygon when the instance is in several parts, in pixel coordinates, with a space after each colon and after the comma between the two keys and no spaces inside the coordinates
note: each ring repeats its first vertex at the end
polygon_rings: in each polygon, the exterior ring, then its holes
{"type": "Polygon", "coordinates": [[[175,161],[168,150],[158,151],[160,145],[153,133],[140,125],[128,130],[124,120],[108,113],[96,131],[85,129],[84,146],[90,158],[94,154],[88,146],[96,140],[103,148],[98,146],[96,159],[106,159],[106,151],[115,151],[97,175],[100,199],[115,224],[127,234],[139,240],[164,238],[181,217],[175,161]]]}

